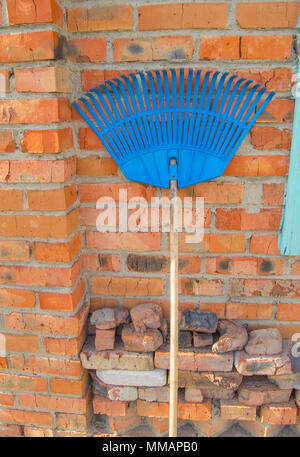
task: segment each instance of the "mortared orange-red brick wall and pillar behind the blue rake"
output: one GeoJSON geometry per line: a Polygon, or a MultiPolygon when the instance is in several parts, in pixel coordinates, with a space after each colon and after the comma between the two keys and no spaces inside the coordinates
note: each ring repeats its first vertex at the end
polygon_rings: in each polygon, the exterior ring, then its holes
{"type": "Polygon", "coordinates": [[[297,2],[94,3],[0,1],[0,435],[85,434],[89,304],[146,299],[168,315],[167,234],[96,231],[97,198],[124,178],[70,107],[120,72],[214,68],[277,91],[224,176],[181,191],[203,196],[207,217],[204,243],[180,239],[180,303],[300,332],[300,262],[277,248],[297,2]]]}

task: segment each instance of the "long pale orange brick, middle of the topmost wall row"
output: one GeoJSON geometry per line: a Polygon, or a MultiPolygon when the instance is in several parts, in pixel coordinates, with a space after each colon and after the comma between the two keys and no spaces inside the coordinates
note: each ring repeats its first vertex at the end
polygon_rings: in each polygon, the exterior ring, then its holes
{"type": "Polygon", "coordinates": [[[226,3],[171,3],[138,8],[139,30],[225,29],[226,3]]]}

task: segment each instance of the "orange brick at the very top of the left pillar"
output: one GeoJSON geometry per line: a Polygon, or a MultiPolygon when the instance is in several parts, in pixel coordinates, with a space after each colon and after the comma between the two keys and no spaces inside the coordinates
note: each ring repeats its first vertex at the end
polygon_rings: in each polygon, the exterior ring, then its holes
{"type": "Polygon", "coordinates": [[[14,24],[35,24],[50,22],[63,27],[64,15],[56,0],[42,0],[33,3],[31,0],[7,0],[8,19],[14,24]]]}

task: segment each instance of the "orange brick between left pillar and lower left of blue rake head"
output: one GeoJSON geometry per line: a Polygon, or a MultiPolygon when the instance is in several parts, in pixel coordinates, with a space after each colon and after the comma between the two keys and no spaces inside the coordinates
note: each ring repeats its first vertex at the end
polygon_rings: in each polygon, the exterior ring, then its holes
{"type": "Polygon", "coordinates": [[[111,157],[91,155],[77,161],[79,176],[117,176],[118,172],[118,165],[111,157]]]}

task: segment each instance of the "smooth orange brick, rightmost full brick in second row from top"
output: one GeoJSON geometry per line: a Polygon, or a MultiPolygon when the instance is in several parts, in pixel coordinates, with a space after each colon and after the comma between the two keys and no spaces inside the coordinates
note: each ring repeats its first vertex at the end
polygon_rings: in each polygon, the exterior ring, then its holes
{"type": "Polygon", "coordinates": [[[291,52],[291,36],[255,35],[241,38],[242,59],[289,59],[291,52]]]}

